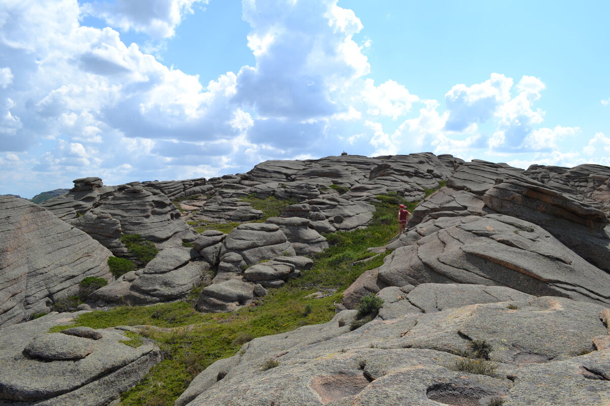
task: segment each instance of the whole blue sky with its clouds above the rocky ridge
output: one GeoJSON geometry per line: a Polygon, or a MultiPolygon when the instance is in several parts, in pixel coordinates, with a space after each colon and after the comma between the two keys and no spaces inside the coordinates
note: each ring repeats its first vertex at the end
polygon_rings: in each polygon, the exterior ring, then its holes
{"type": "Polygon", "coordinates": [[[610,165],[610,2],[2,0],[0,194],[451,153],[610,165]]]}

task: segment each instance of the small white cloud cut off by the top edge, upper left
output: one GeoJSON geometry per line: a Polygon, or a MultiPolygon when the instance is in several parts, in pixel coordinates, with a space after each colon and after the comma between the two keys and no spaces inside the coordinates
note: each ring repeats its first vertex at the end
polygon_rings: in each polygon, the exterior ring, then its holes
{"type": "Polygon", "coordinates": [[[184,15],[193,13],[193,5],[209,0],[116,0],[93,1],[82,5],[88,15],[106,20],[110,27],[143,32],[159,40],[174,35],[184,15]]]}

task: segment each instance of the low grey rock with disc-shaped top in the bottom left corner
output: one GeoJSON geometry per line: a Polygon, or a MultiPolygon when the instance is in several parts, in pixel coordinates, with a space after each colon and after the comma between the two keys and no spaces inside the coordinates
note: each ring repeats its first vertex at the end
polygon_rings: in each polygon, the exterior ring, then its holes
{"type": "Polygon", "coordinates": [[[156,345],[126,345],[130,338],[115,328],[47,334],[76,314],[49,313],[0,329],[0,404],[107,405],[160,362],[156,345]]]}

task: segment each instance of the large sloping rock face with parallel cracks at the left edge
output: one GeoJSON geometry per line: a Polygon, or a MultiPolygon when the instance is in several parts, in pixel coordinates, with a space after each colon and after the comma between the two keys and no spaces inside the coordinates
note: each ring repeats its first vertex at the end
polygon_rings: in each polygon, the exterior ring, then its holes
{"type": "Polygon", "coordinates": [[[49,312],[87,276],[111,279],[109,250],[51,212],[0,198],[0,326],[49,312]]]}

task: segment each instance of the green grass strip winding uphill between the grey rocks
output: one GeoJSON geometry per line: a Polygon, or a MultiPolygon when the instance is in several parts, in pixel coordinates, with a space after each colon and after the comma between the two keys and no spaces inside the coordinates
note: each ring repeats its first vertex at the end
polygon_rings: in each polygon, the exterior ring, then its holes
{"type": "MultiPolygon", "coordinates": [[[[335,314],[334,302],[340,301],[343,290],[364,271],[379,267],[389,254],[387,251],[370,261],[351,265],[358,259],[371,256],[367,248],[385,245],[398,233],[394,203],[399,197],[390,198],[391,201],[376,203],[376,212],[367,228],[328,234],[331,247],[314,257],[314,267],[304,271],[301,278],[292,279],[281,288],[271,289],[267,296],[255,301],[256,306],[232,313],[198,313],[193,309],[197,296],[194,293],[185,301],[84,313],[74,324],[57,326],[51,331],[73,326],[95,329],[142,324],[171,327],[171,332],[154,329],[142,332],[145,337],[159,343],[165,357],[142,382],[121,396],[122,406],[171,406],[200,371],[218,359],[234,355],[243,343],[252,338],[331,320],[335,314]],[[388,216],[392,216],[392,222],[384,220],[388,216]],[[304,298],[320,290],[334,290],[335,293],[320,299],[304,298]]],[[[261,200],[253,197],[247,199],[253,201],[253,206],[256,200],[261,200]]],[[[283,207],[281,205],[290,203],[274,200],[265,199],[266,203],[256,203],[265,205],[265,215],[277,215],[283,207]]],[[[414,207],[415,203],[409,205],[414,207]]]]}

